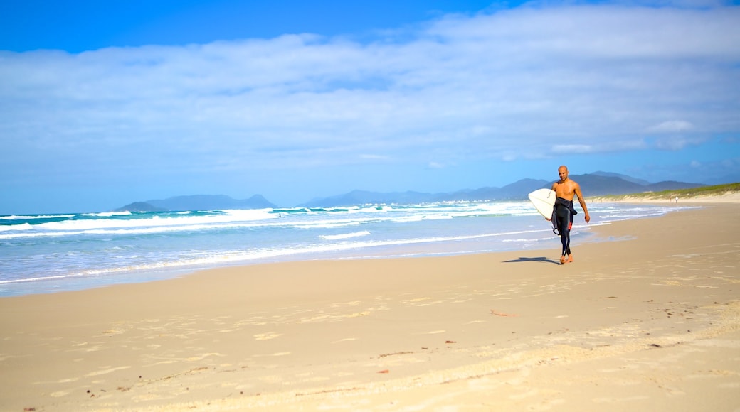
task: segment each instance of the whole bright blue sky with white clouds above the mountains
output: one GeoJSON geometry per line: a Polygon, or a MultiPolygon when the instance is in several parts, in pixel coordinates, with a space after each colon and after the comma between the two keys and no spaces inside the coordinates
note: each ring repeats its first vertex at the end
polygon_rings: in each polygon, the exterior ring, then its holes
{"type": "Polygon", "coordinates": [[[739,181],[738,44],[712,0],[1,1],[0,214],[739,181]]]}

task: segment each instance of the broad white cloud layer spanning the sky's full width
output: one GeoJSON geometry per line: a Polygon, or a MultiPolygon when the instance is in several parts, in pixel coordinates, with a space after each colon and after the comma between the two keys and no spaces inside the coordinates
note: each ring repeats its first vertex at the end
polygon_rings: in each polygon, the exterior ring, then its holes
{"type": "Polygon", "coordinates": [[[672,151],[740,131],[740,8],[445,16],[370,41],[0,52],[1,164],[249,173],[672,151]]]}

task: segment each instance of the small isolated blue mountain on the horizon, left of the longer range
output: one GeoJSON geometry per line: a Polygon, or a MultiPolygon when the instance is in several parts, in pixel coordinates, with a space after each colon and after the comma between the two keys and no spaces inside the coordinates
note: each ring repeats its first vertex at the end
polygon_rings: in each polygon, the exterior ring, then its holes
{"type": "Polygon", "coordinates": [[[232,199],[223,195],[175,196],[168,199],[134,202],[117,211],[166,211],[166,210],[218,210],[218,209],[264,209],[277,207],[261,195],[249,199],[232,199]]]}

